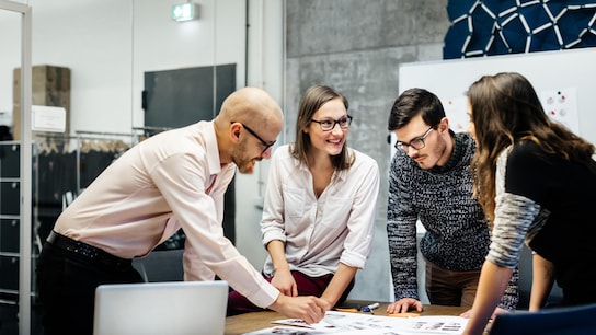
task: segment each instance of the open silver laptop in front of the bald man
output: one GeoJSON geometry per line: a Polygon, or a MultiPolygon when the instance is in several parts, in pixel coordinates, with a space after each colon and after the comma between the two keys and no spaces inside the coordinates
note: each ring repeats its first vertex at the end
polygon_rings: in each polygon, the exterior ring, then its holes
{"type": "Polygon", "coordinates": [[[93,334],[224,334],[227,303],[224,280],[102,285],[93,334]]]}

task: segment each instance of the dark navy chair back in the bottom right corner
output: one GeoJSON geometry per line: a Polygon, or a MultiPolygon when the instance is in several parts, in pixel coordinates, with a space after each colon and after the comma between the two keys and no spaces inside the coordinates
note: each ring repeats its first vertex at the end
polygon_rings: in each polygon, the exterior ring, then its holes
{"type": "Polygon", "coordinates": [[[490,335],[596,334],[596,303],[496,315],[490,335]]]}

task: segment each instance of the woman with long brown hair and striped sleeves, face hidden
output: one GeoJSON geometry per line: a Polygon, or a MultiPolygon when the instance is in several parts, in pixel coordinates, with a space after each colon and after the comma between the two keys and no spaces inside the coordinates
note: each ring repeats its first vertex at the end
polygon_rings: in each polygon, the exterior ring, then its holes
{"type": "Polygon", "coordinates": [[[474,194],[493,231],[465,334],[482,334],[523,243],[535,254],[530,310],[542,308],[554,280],[562,304],[596,302],[594,146],[551,120],[519,73],[482,77],[468,101],[474,194]]]}

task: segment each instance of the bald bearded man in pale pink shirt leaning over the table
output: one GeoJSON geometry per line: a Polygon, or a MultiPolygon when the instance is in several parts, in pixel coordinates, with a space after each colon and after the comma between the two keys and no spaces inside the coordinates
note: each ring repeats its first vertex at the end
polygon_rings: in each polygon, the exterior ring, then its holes
{"type": "Polygon", "coordinates": [[[186,235],[185,280],[213,280],[217,274],[256,305],[319,322],[322,301],[280,294],[221,226],[224,194],[236,169],[250,173],[268,159],[282,126],[271,95],[244,88],[226,99],[215,119],[156,135],[113,162],[60,215],[39,255],[46,334],[91,334],[95,288],[142,281],[131,259],[180,228],[186,235]]]}

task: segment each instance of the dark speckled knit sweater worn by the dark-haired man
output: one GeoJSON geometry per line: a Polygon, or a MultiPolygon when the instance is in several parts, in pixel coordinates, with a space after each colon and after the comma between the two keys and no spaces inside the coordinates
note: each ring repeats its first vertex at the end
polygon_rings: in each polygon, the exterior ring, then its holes
{"type": "MultiPolygon", "coordinates": [[[[391,162],[387,234],[396,301],[419,299],[419,219],[426,229],[420,251],[438,267],[454,272],[479,270],[489,251],[489,226],[482,207],[472,198],[470,161],[475,143],[465,132],[451,132],[451,136],[454,152],[445,166],[422,170],[403,150],[398,150],[391,162]]],[[[518,275],[515,270],[501,308],[516,308],[518,275]]]]}

